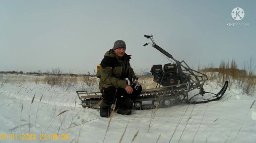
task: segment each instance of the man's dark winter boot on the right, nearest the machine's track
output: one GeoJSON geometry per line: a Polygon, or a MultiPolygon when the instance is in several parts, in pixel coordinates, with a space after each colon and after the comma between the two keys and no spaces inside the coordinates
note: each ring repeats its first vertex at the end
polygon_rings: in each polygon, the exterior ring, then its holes
{"type": "Polygon", "coordinates": [[[126,97],[124,102],[117,109],[117,113],[122,115],[130,115],[132,103],[133,101],[129,97],[126,97]]]}

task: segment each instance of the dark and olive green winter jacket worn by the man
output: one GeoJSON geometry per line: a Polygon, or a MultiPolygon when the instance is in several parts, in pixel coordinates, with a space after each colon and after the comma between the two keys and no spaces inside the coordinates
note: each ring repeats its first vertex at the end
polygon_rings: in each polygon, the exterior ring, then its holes
{"type": "Polygon", "coordinates": [[[125,88],[127,81],[126,77],[134,76],[133,69],[130,67],[129,60],[131,55],[125,54],[121,59],[115,55],[110,49],[104,55],[101,61],[99,89],[102,92],[103,88],[115,86],[125,88]]]}

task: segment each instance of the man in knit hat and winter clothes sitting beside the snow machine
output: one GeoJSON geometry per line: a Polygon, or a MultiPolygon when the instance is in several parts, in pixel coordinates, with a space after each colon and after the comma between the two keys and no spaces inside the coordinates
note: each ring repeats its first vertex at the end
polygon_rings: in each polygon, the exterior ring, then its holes
{"type": "Polygon", "coordinates": [[[111,106],[114,104],[117,113],[131,114],[132,103],[141,93],[142,88],[137,82],[138,78],[134,76],[130,67],[130,56],[126,54],[126,43],[117,40],[101,61],[99,83],[103,96],[100,105],[101,117],[109,117],[111,106]]]}

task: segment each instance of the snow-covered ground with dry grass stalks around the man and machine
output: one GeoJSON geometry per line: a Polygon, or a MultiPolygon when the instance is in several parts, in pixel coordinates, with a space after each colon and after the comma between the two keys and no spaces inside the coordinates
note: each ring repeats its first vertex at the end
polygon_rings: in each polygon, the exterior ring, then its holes
{"type": "MultiPolygon", "coordinates": [[[[209,81],[205,90],[217,93],[222,84],[209,81]]],[[[0,143],[256,143],[256,96],[233,86],[219,101],[132,110],[110,122],[98,109],[81,107],[76,90],[0,83],[0,143]]]]}

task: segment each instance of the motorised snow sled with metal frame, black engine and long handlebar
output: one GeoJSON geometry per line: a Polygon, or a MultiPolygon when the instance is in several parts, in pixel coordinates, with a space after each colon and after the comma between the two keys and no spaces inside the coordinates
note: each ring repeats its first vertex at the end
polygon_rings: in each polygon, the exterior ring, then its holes
{"type": "MultiPolygon", "coordinates": [[[[170,107],[173,103],[201,104],[219,100],[224,95],[228,87],[228,81],[225,82],[217,94],[205,92],[203,85],[208,80],[206,74],[192,70],[185,61],[180,62],[174,59],[171,54],[155,43],[152,35],[144,36],[152,41],[152,43],[146,43],[144,46],[151,44],[152,47],[174,62],[164,66],[152,66],[150,72],[157,86],[143,89],[139,97],[133,102],[133,109],[170,107]],[[199,92],[189,98],[189,92],[195,89],[199,92]]],[[[77,91],[76,93],[82,102],[82,107],[99,108],[99,103],[102,100],[100,92],[77,91]]]]}

